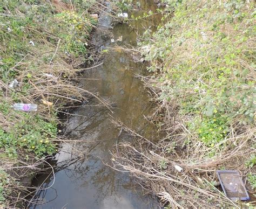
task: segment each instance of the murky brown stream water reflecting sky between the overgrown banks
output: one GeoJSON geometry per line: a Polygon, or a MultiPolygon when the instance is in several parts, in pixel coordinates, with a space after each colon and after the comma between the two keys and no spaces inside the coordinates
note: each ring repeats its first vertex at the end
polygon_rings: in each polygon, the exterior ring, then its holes
{"type": "MultiPolygon", "coordinates": [[[[146,11],[156,11],[153,1],[140,4],[146,11]]],[[[136,11],[133,15],[142,13],[136,11]]],[[[158,138],[156,127],[145,119],[153,109],[149,94],[134,76],[145,73],[145,64],[121,46],[135,46],[137,33],[159,22],[159,16],[152,16],[147,21],[133,22],[133,28],[116,24],[112,29],[95,32],[92,40],[98,43],[99,50],[108,52],[102,65],[84,72],[81,85],[112,102],[113,113],[92,99],[67,116],[64,134],[81,142],[63,144],[50,162],[54,175],[49,169],[33,180],[33,186],[41,190],[31,200],[35,205],[30,204],[30,208],[159,208],[157,200],[144,195],[129,173],[105,165],[112,165],[110,151],[117,143],[132,140],[110,121],[111,116],[150,140],[158,138]],[[111,42],[120,36],[122,41],[111,42]]]]}

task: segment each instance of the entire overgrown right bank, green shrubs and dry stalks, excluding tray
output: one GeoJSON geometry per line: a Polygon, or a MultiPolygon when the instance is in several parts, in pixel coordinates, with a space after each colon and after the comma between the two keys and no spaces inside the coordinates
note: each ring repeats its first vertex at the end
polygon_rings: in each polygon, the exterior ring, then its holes
{"type": "Polygon", "coordinates": [[[166,137],[153,144],[135,134],[113,153],[115,168],[130,171],[167,208],[253,208],[254,2],[165,3],[173,16],[140,47],[153,72],[144,81],[159,104],[154,123],[166,137]],[[251,204],[224,196],[218,169],[240,172],[251,204]]]}

